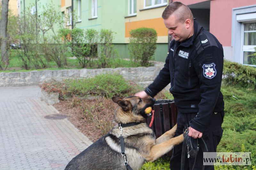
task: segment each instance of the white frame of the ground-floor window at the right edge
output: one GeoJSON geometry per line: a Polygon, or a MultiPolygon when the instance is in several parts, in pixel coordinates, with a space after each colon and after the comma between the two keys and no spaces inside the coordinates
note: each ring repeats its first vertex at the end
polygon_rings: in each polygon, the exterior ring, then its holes
{"type": "Polygon", "coordinates": [[[256,47],[256,45],[244,45],[244,33],[246,33],[246,32],[256,32],[256,30],[255,31],[244,31],[244,25],[245,24],[247,24],[247,23],[254,23],[254,22],[256,22],[256,20],[255,21],[251,21],[251,22],[243,22],[243,25],[242,25],[242,54],[241,54],[241,63],[243,64],[243,65],[249,65],[249,66],[254,66],[254,67],[256,67],[256,65],[251,65],[251,64],[244,64],[244,52],[256,52],[255,51],[255,47],[256,47]]]}

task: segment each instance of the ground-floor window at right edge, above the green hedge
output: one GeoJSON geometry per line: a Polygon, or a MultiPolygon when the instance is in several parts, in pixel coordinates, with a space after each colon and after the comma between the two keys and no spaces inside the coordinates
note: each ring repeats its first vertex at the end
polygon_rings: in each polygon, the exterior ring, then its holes
{"type": "Polygon", "coordinates": [[[243,64],[256,66],[256,22],[243,24],[243,64]]]}

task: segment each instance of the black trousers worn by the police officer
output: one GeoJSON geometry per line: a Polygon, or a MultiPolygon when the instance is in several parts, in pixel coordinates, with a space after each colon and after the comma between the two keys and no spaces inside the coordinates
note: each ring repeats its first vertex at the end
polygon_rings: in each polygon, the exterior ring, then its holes
{"type": "MultiPolygon", "coordinates": [[[[191,119],[196,117],[197,113],[189,113],[189,114],[184,114],[184,113],[178,113],[177,116],[177,131],[175,136],[179,136],[180,134],[183,133],[183,128],[185,125],[189,123],[191,119]]],[[[212,113],[211,115],[211,121],[209,122],[209,125],[206,127],[206,129],[203,132],[203,138],[204,141],[207,145],[208,151],[209,152],[216,152],[217,145],[220,143],[220,139],[222,137],[222,128],[221,124],[223,122],[223,117],[224,117],[224,111],[223,112],[218,112],[218,113],[212,113]]],[[[170,159],[170,169],[171,170],[180,170],[181,166],[181,152],[182,152],[182,144],[179,144],[175,146],[172,149],[172,157],[170,159]]],[[[187,164],[187,169],[192,169],[192,166],[194,164],[194,159],[192,160],[191,158],[185,157],[185,162],[187,164]]],[[[203,167],[203,151],[201,148],[199,149],[199,152],[196,157],[196,164],[194,169],[195,170],[201,170],[203,167]]],[[[212,170],[214,169],[214,166],[204,166],[205,170],[212,170]]]]}

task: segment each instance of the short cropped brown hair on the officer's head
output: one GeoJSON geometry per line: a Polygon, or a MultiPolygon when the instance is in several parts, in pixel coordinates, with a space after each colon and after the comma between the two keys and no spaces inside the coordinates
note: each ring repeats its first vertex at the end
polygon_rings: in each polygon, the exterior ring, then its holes
{"type": "Polygon", "coordinates": [[[188,8],[187,5],[182,4],[181,2],[173,2],[169,4],[162,14],[163,19],[167,19],[175,12],[177,21],[185,22],[186,19],[190,19],[193,22],[193,14],[188,8]]]}

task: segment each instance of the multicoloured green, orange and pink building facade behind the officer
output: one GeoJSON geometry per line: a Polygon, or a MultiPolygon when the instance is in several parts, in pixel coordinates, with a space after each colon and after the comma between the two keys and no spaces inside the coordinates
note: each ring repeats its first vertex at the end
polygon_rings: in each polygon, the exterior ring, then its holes
{"type": "MultiPolygon", "coordinates": [[[[256,48],[255,0],[18,0],[22,10],[35,2],[52,3],[60,8],[64,27],[115,32],[113,41],[122,58],[129,58],[129,32],[140,27],[157,32],[156,61],[165,61],[168,52],[168,30],[161,17],[165,7],[174,1],[188,5],[199,24],[213,33],[223,45],[227,60],[256,66],[251,56],[256,48]],[[169,2],[170,1],[170,2],[169,2]],[[72,18],[74,12],[76,21],[72,18]],[[67,17],[68,16],[68,17],[67,17]]],[[[38,7],[37,7],[38,8],[38,7]]],[[[40,10],[40,9],[39,9],[40,10]]]]}

